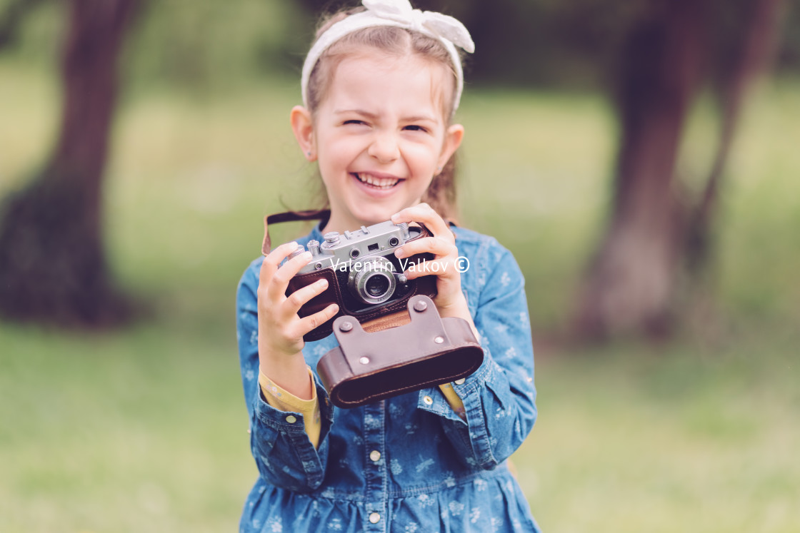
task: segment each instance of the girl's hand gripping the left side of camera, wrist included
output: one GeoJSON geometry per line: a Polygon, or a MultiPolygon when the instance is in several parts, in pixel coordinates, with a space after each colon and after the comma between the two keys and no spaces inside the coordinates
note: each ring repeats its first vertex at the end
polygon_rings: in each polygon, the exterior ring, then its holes
{"type": "Polygon", "coordinates": [[[330,320],[338,305],[330,304],[322,311],[300,318],[298,311],[308,300],[317,296],[328,286],[326,280],[300,288],[286,296],[289,280],[311,260],[309,252],[292,257],[280,265],[290,253],[297,249],[297,243],[280,245],[264,258],[258,280],[258,360],[262,371],[276,384],[295,396],[294,384],[303,391],[308,388],[309,379],[302,350],[305,342],[302,337],[326,320],[330,320]],[[280,265],[280,266],[278,266],[280,265]]]}

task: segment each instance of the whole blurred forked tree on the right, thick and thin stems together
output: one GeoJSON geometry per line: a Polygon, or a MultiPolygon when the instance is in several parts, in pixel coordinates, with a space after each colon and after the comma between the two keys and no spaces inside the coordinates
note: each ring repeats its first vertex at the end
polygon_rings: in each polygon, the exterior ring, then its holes
{"type": "Polygon", "coordinates": [[[770,58],[781,2],[654,0],[630,27],[617,78],[622,137],[614,205],[578,297],[578,336],[670,331],[680,268],[693,275],[708,257],[739,110],[770,58]],[[690,106],[709,81],[721,102],[721,131],[695,200],[675,167],[690,106]]]}

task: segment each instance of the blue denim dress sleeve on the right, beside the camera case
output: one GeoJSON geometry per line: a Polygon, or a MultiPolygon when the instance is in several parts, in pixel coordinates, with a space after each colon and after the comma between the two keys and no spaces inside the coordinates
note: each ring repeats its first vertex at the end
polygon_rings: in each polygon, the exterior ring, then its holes
{"type": "Polygon", "coordinates": [[[474,374],[453,384],[464,404],[464,419],[445,396],[432,395],[430,389],[422,390],[418,401],[418,408],[440,417],[458,455],[466,463],[486,469],[516,451],[537,414],[525,282],[511,253],[499,245],[497,250],[494,257],[481,258],[494,267],[486,272],[479,295],[468,295],[478,300],[470,309],[474,309],[484,360],[474,374]],[[430,403],[432,398],[435,400],[430,403]]]}

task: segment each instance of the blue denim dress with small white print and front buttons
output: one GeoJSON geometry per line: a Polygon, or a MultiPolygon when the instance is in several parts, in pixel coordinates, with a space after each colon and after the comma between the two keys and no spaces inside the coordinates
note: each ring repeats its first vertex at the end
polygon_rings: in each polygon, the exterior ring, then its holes
{"type": "MultiPolygon", "coordinates": [[[[256,296],[262,258],[246,269],[237,293],[237,339],[258,479],[239,531],[539,531],[506,465],[536,420],[522,272],[494,238],[453,231],[459,255],[469,261],[462,291],[484,351],[482,366],[453,384],[464,419],[438,388],[334,407],[316,374],[319,358],[336,346],[330,335],[302,350],[321,411],[318,449],[300,413],[278,411],[262,396],[256,296]]],[[[322,241],[318,228],[297,242],[310,239],[322,241]]]]}

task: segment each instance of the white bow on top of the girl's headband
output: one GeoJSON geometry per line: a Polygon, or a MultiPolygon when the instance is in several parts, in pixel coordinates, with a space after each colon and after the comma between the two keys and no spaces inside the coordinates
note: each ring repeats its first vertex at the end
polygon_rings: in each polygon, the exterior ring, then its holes
{"type": "Polygon", "coordinates": [[[362,0],[362,4],[376,17],[401,22],[422,34],[446,39],[470,54],[475,51],[470,32],[456,18],[434,11],[415,10],[409,0],[362,0]]]}

